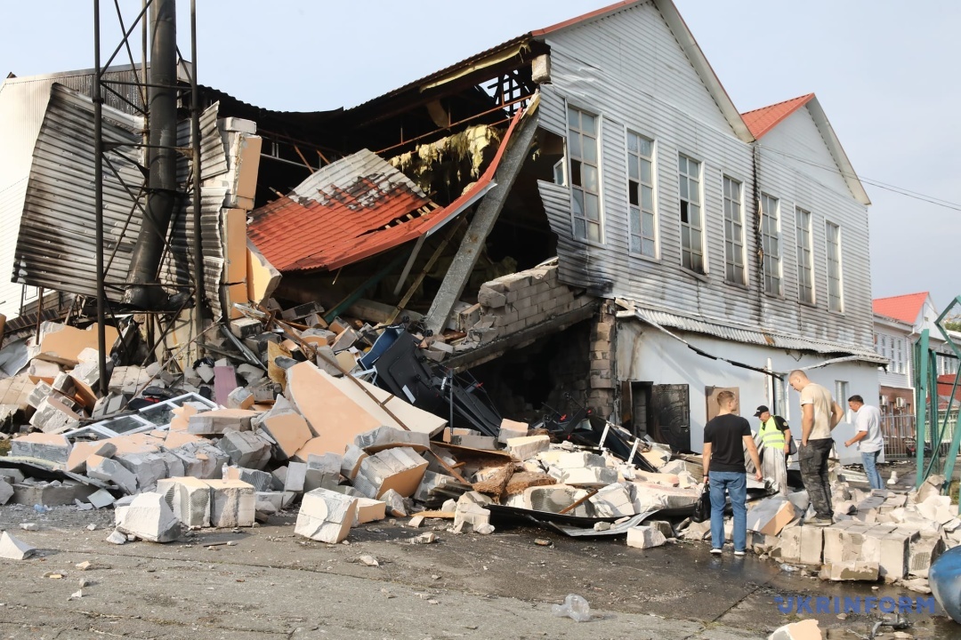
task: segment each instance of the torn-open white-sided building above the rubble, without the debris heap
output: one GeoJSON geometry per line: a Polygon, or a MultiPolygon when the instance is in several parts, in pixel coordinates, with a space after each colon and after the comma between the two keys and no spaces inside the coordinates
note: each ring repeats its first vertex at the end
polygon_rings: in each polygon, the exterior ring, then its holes
{"type": "MultiPolygon", "coordinates": [[[[722,388],[800,415],[778,377],[792,368],[874,394],[869,201],[824,111],[810,94],[742,116],[670,2],[530,32],[343,111],[207,95],[221,135],[247,123],[204,147],[214,319],[276,298],[318,303],[323,324],[416,320],[505,415],[567,411],[570,395],[676,450],[700,451],[722,388]]],[[[114,282],[136,237],[130,200],[111,199],[114,282]]],[[[47,201],[27,196],[15,279],[89,295],[89,273],[58,271],[88,264],[88,244],[44,240],[53,265],[31,250],[62,217],[47,201]]],[[[172,225],[168,288],[188,276],[189,243],[175,239],[191,219],[172,225]]],[[[164,334],[158,355],[190,331],[164,334]]]]}

